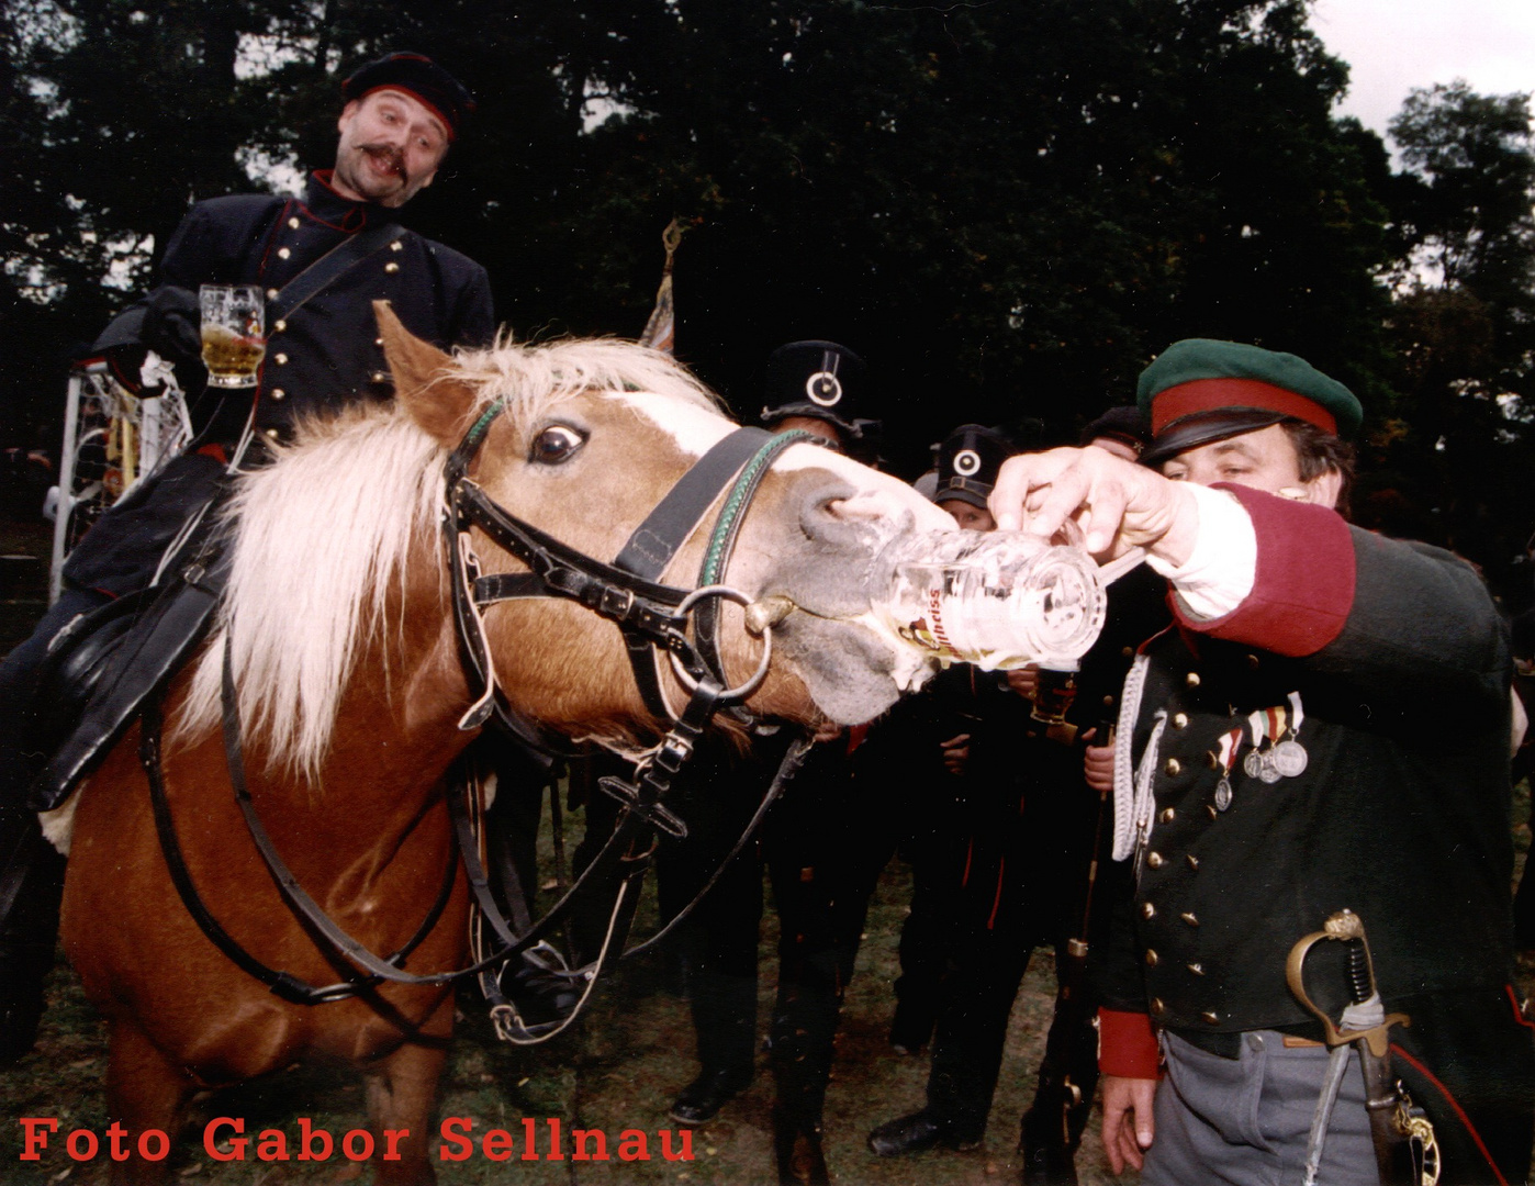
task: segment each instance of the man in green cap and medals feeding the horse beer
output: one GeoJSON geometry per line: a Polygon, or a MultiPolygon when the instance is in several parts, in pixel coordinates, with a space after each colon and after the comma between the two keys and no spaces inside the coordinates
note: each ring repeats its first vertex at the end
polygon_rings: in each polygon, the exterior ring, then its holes
{"type": "Polygon", "coordinates": [[[1423,1154],[1400,1105],[1432,1122],[1440,1181],[1524,1181],[1503,621],[1460,558],[1339,514],[1362,410],[1303,359],[1183,341],[1139,399],[1150,466],[1056,450],[1010,460],[992,496],[1004,529],[1074,519],[1171,586],[1177,629],[1141,647],[1116,746],[1088,763],[1133,862],[1091,968],[1110,1165],[1148,1186],[1374,1186],[1423,1154]],[[1334,1054],[1320,1014],[1389,1026],[1385,1062],[1334,1054]]]}

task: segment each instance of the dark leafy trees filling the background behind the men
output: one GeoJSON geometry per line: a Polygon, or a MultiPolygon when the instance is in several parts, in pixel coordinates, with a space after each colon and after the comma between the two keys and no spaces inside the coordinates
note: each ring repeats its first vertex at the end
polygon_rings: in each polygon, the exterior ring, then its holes
{"type": "Polygon", "coordinates": [[[1527,97],[1415,95],[1394,172],[1332,117],[1348,69],[1303,0],[0,14],[6,443],[55,445],[69,359],[149,279],[124,245],[256,187],[241,152],[328,164],[339,78],[411,48],[480,109],[410,221],[490,268],[519,338],[637,334],[675,215],[680,357],[751,416],[772,347],[852,345],[903,474],[961,420],[1071,439],[1199,334],[1294,350],[1360,393],[1365,522],[1507,578],[1535,526],[1529,427],[1495,400],[1532,408],[1527,97]]]}

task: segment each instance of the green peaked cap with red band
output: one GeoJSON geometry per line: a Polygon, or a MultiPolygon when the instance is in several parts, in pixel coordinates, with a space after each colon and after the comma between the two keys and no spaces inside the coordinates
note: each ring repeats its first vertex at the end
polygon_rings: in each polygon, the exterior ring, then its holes
{"type": "Polygon", "coordinates": [[[1349,437],[1365,419],[1354,393],[1305,359],[1213,338],[1185,338],[1164,350],[1141,373],[1136,397],[1151,420],[1145,462],[1286,419],[1349,437]]]}

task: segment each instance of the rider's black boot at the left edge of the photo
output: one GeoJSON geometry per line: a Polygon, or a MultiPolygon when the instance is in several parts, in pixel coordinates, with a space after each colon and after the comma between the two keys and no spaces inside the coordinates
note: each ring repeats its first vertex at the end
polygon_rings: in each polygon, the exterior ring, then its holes
{"type": "Polygon", "coordinates": [[[0,812],[0,1066],[37,1042],[43,982],[54,967],[64,858],[31,812],[0,812]]]}

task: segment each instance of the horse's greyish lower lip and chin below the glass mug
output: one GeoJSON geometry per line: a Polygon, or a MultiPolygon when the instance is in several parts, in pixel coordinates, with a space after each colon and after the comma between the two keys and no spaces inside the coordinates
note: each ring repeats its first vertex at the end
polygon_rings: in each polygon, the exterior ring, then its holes
{"type": "Polygon", "coordinates": [[[815,706],[837,724],[872,721],[938,669],[873,615],[794,614],[775,634],[815,706]]]}

